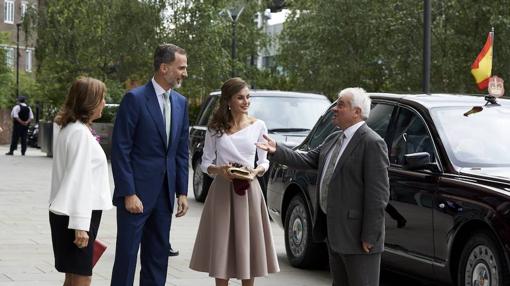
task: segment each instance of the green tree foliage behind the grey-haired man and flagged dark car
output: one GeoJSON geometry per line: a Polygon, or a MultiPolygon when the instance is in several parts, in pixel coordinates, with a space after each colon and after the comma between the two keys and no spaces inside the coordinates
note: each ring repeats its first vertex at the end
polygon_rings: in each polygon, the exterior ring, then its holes
{"type": "MultiPolygon", "coordinates": [[[[279,64],[294,89],[334,96],[348,86],[371,91],[422,89],[423,1],[288,1],[279,64]]],[[[508,78],[507,0],[432,1],[434,92],[477,92],[470,65],[492,26],[496,74],[508,78]],[[500,31],[500,32],[498,32],[500,31]]]]}

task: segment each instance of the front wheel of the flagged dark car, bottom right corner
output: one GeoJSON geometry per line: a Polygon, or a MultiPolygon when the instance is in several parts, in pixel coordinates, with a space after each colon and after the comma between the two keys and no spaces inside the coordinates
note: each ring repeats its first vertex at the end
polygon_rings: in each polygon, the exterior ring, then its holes
{"type": "Polygon", "coordinates": [[[460,256],[459,286],[510,285],[508,268],[494,239],[485,233],[472,236],[460,256]]]}

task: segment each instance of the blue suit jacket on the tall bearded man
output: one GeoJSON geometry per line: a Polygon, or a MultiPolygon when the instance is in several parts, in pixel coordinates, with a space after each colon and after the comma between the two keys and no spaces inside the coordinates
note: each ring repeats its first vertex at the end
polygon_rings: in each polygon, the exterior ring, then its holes
{"type": "Polygon", "coordinates": [[[129,91],[122,99],[112,138],[113,203],[136,194],[144,209],[152,209],[168,178],[170,206],[188,193],[188,103],[172,90],[171,132],[168,148],[163,114],[152,82],[129,91]]]}

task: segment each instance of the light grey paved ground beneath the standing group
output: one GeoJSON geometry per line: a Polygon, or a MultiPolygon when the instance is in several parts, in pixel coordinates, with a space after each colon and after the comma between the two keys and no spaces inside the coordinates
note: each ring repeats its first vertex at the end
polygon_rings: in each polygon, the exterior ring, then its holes
{"type": "MultiPolygon", "coordinates": [[[[48,223],[52,159],[38,149],[29,148],[25,157],[19,156],[19,151],[15,156],[5,156],[7,151],[7,145],[0,145],[0,286],[62,285],[64,275],[53,267],[48,223]]],[[[195,202],[191,190],[189,195],[190,211],[183,218],[173,219],[171,241],[180,255],[170,258],[166,285],[214,285],[214,280],[207,274],[188,268],[202,212],[202,204],[195,202]]],[[[327,271],[291,267],[285,256],[283,231],[276,224],[272,226],[281,272],[258,278],[255,284],[331,285],[327,271]]],[[[92,285],[109,285],[115,236],[113,209],[103,213],[98,238],[109,247],[94,268],[92,285]]],[[[138,285],[138,275],[135,285],[138,285]]],[[[231,285],[241,284],[232,280],[231,285]]]]}

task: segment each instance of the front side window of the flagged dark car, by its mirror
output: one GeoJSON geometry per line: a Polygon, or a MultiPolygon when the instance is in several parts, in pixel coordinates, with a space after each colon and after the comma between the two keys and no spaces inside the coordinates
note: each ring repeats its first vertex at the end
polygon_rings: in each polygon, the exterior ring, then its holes
{"type": "Polygon", "coordinates": [[[435,161],[434,145],[423,119],[414,111],[400,108],[390,151],[390,162],[403,165],[404,155],[428,152],[435,161]]]}

